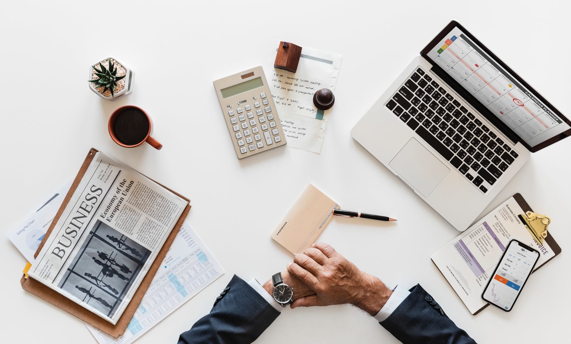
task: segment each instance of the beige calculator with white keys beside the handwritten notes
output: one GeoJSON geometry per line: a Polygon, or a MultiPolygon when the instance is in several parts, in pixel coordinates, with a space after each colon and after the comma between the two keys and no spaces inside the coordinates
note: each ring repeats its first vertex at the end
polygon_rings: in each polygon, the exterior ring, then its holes
{"type": "Polygon", "coordinates": [[[286,144],[262,66],[214,81],[238,159],[286,144]]]}

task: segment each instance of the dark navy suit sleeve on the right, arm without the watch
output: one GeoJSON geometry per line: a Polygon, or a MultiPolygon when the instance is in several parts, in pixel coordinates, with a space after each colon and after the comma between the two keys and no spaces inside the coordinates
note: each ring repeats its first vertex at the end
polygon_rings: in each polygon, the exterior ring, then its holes
{"type": "Polygon", "coordinates": [[[416,285],[411,294],[380,324],[403,343],[465,344],[474,339],[441,312],[423,287],[416,285]]]}

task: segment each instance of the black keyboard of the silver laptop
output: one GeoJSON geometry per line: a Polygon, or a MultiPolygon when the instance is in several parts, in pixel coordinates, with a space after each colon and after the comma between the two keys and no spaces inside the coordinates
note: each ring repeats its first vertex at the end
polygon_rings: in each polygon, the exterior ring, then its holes
{"type": "Polygon", "coordinates": [[[488,192],[518,157],[510,143],[420,67],[385,106],[482,193],[488,192]]]}

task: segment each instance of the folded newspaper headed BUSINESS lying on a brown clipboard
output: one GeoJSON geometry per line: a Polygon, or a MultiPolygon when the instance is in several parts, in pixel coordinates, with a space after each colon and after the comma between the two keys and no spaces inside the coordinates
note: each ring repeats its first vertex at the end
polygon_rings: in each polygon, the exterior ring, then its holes
{"type": "Polygon", "coordinates": [[[186,205],[98,152],[28,275],[115,325],[186,205]]]}

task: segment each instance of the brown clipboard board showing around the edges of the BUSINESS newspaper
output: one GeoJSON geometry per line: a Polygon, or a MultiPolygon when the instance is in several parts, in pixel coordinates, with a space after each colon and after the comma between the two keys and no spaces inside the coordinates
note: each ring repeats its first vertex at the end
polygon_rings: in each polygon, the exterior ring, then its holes
{"type": "MultiPolygon", "coordinates": [[[[36,258],[38,256],[39,251],[42,250],[43,245],[45,244],[47,238],[50,236],[51,231],[54,229],[56,223],[59,220],[59,217],[61,217],[63,210],[67,206],[67,203],[69,203],[75,189],[77,189],[77,187],[79,186],[79,182],[81,182],[83,175],[87,171],[89,164],[91,163],[91,161],[93,161],[95,153],[97,152],[98,150],[94,148],[89,150],[89,154],[87,154],[87,157],[83,161],[83,165],[81,165],[81,169],[79,169],[77,176],[75,176],[75,179],[71,184],[70,190],[67,192],[65,199],[63,199],[61,207],[59,207],[58,213],[55,215],[49,229],[46,231],[46,235],[44,235],[42,242],[39,244],[38,250],[34,254],[34,258],[36,258]]],[[[172,241],[174,241],[176,234],[178,234],[180,226],[182,226],[182,223],[186,218],[188,211],[190,210],[191,207],[190,199],[176,193],[171,189],[168,189],[168,187],[165,187],[161,184],[159,185],[164,187],[168,191],[171,191],[172,193],[178,195],[179,197],[185,199],[188,203],[184,208],[182,214],[180,215],[180,218],[176,222],[174,228],[172,229],[171,234],[168,235],[166,241],[164,242],[163,247],[160,249],[158,255],[156,256],[155,261],[152,263],[150,269],[143,278],[143,281],[140,283],[138,289],[135,291],[135,294],[131,298],[131,301],[128,303],[127,308],[123,311],[123,314],[121,315],[121,317],[119,318],[119,320],[115,325],[99,317],[98,315],[95,315],[95,313],[92,313],[91,311],[83,308],[82,306],[71,301],[62,294],[59,294],[57,291],[43,285],[42,283],[35,281],[34,279],[31,278],[26,278],[25,274],[20,279],[22,288],[34,295],[37,295],[38,297],[41,297],[42,299],[45,299],[47,302],[51,303],[52,305],[57,306],[67,311],[68,313],[75,315],[79,319],[82,319],[83,321],[90,323],[91,325],[97,327],[99,330],[102,330],[103,332],[108,333],[115,338],[123,334],[127,329],[127,325],[129,325],[131,318],[135,314],[135,311],[139,306],[141,299],[146,293],[148,286],[151,284],[152,279],[155,277],[156,271],[159,269],[159,266],[161,265],[164,257],[166,256],[167,251],[172,244],[172,241]]]]}

